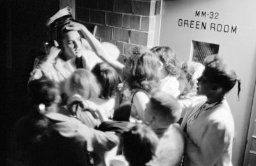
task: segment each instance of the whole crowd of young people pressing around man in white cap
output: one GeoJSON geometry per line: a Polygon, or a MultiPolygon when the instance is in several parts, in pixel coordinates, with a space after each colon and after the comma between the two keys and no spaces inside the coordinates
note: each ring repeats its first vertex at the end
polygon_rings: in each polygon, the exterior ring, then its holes
{"type": "MultiPolygon", "coordinates": [[[[64,14],[63,14],[64,13],[64,14]]],[[[28,165],[232,165],[234,119],[225,94],[240,81],[220,56],[180,63],[173,49],[119,51],[68,8],[35,59],[30,114],[15,125],[28,165]]]]}

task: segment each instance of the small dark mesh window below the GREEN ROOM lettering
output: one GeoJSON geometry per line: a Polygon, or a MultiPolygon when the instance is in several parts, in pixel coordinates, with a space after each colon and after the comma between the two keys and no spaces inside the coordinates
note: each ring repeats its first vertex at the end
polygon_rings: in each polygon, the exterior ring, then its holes
{"type": "Polygon", "coordinates": [[[219,53],[220,45],[205,43],[202,41],[192,41],[193,57],[192,60],[204,64],[204,58],[219,53]]]}

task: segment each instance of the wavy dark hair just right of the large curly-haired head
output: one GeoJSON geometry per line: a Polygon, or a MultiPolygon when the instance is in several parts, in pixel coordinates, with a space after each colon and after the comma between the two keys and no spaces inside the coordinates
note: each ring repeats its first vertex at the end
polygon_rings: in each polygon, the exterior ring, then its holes
{"type": "Polygon", "coordinates": [[[170,75],[177,75],[179,73],[179,61],[177,59],[177,55],[175,51],[167,46],[156,46],[150,49],[159,60],[164,64],[165,70],[170,75]]]}

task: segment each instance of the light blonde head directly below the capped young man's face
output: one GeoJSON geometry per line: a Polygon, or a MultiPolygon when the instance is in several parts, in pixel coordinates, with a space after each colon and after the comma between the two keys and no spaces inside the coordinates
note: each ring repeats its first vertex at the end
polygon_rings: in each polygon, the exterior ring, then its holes
{"type": "Polygon", "coordinates": [[[77,69],[65,82],[65,92],[68,97],[79,94],[84,100],[97,98],[100,86],[95,76],[85,69],[77,69]]]}

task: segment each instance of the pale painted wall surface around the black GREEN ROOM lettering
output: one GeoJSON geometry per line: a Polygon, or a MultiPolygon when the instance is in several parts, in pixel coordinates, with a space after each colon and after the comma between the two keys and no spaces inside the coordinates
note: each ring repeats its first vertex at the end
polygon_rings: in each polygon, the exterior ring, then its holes
{"type": "MultiPolygon", "coordinates": [[[[240,100],[237,85],[227,94],[227,100],[235,119],[236,136],[233,148],[233,164],[242,165],[253,89],[256,80],[256,1],[255,0],[163,0],[163,15],[159,45],[172,47],[180,61],[188,61],[191,41],[205,41],[220,45],[222,56],[241,78],[240,100]],[[218,12],[218,19],[195,17],[195,11],[218,12]],[[207,22],[207,28],[193,29],[178,26],[179,19],[207,22]],[[210,31],[209,24],[237,26],[236,34],[210,31]]],[[[194,25],[195,26],[195,25],[194,25]]]]}

